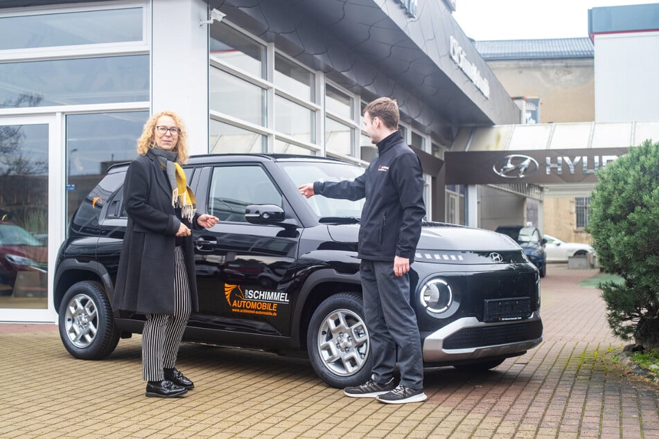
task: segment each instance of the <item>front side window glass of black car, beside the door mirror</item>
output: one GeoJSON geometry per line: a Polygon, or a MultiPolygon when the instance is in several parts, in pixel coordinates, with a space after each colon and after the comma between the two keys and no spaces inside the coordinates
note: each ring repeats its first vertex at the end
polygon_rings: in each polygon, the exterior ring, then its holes
{"type": "Polygon", "coordinates": [[[213,169],[209,213],[220,221],[247,222],[245,208],[250,204],[282,205],[279,190],[261,166],[218,166],[213,169]]]}

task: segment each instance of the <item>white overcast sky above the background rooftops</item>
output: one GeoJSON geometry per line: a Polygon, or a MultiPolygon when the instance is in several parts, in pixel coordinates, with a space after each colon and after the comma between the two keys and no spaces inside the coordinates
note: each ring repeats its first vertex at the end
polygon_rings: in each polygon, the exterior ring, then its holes
{"type": "Polygon", "coordinates": [[[472,39],[588,37],[588,10],[657,0],[457,0],[453,18],[472,39]]]}

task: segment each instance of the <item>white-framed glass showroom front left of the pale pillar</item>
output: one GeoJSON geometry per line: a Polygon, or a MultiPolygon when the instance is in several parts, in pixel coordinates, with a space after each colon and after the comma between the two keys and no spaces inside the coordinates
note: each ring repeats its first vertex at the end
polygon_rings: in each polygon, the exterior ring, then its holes
{"type": "Polygon", "coordinates": [[[146,7],[78,9],[0,16],[0,321],[54,315],[49,253],[149,115],[146,7]]]}

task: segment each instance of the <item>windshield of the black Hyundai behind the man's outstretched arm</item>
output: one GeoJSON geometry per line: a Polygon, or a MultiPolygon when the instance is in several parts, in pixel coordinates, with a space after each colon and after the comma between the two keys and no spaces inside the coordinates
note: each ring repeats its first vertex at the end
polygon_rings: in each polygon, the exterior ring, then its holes
{"type": "MultiPolygon", "coordinates": [[[[313,181],[354,180],[364,173],[364,168],[349,163],[330,162],[283,162],[279,163],[288,177],[301,186],[313,181]]],[[[306,199],[309,206],[319,217],[361,217],[364,199],[350,201],[348,199],[326,198],[322,195],[306,199]]]]}

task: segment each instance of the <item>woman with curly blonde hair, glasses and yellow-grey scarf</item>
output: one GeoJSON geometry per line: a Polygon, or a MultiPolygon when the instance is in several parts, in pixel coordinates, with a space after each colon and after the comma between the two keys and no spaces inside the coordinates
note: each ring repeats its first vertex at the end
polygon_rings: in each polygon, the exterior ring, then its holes
{"type": "Polygon", "coordinates": [[[151,116],[123,186],[128,226],[112,303],[116,312],[146,315],[142,377],[148,397],[178,397],[195,386],[175,368],[186,323],[198,309],[191,229],[219,220],[197,213],[180,165],[188,159],[186,139],[173,111],[151,116]]]}

